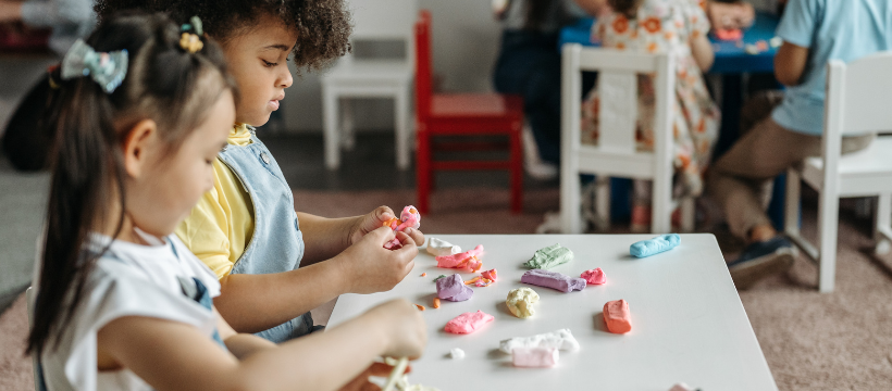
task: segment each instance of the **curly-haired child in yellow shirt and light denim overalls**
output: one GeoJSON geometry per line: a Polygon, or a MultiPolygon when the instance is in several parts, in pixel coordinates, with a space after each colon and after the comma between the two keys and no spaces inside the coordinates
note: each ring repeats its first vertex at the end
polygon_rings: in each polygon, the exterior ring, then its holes
{"type": "MultiPolygon", "coordinates": [[[[356,245],[395,216],[389,207],[336,219],[296,213],[292,189],[255,134],[253,127],[269,121],[292,86],[289,54],[299,68],[318,70],[349,49],[343,0],[96,4],[100,18],[133,8],[183,20],[198,15],[205,31],[221,42],[238,84],[235,125],[228,144],[213,160],[213,188],[176,229],[220,279],[214,304],[223,317],[239,332],[282,342],[311,332],[309,311],[339,294],[386,291],[402,280],[412,269],[416,245],[397,252],[356,245]]],[[[418,229],[406,232],[423,243],[418,229]]]]}

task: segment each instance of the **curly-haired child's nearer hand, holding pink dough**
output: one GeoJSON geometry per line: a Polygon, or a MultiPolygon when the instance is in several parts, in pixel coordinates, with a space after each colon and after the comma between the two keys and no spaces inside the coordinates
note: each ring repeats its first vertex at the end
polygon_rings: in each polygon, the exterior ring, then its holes
{"type": "MultiPolygon", "coordinates": [[[[417,229],[414,229],[417,231],[417,229]]],[[[414,266],[418,247],[408,235],[377,227],[335,258],[343,267],[351,293],[374,293],[393,289],[414,266]],[[398,250],[387,250],[384,243],[397,238],[398,250]]]]}

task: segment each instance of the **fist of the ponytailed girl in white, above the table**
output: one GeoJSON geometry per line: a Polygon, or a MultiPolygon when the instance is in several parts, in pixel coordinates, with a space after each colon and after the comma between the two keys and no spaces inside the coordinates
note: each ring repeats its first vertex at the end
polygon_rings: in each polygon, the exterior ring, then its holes
{"type": "Polygon", "coordinates": [[[391,300],[366,313],[379,325],[387,348],[382,352],[386,357],[421,357],[428,344],[428,328],[418,308],[405,299],[391,300]]]}

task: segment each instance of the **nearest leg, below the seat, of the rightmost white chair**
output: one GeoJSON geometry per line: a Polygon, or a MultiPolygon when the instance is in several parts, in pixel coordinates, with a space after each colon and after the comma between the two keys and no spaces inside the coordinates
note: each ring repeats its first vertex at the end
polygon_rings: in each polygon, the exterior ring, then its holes
{"type": "MultiPolygon", "coordinates": [[[[832,187],[831,187],[832,188],[832,187]]],[[[837,276],[837,229],[840,199],[834,191],[821,189],[818,201],[818,289],[821,293],[833,291],[837,276]]]]}

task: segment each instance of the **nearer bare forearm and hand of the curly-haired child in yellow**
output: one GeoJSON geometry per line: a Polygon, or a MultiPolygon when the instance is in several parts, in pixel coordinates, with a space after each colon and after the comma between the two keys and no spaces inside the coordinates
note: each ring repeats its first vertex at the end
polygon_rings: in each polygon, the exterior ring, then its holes
{"type": "Polygon", "coordinates": [[[389,290],[412,270],[416,255],[412,238],[382,227],[326,262],[285,273],[228,275],[220,280],[214,305],[235,330],[263,331],[343,293],[389,290]],[[384,249],[394,237],[404,247],[384,249]]]}

